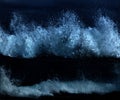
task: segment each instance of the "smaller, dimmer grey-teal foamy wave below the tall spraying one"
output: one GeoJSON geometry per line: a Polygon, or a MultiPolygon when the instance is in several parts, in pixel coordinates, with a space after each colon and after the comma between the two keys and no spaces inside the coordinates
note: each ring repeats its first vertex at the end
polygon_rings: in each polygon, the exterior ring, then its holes
{"type": "Polygon", "coordinates": [[[0,68],[0,94],[15,97],[40,97],[53,96],[54,93],[100,93],[105,94],[112,91],[119,91],[114,83],[97,83],[89,80],[76,81],[55,81],[47,80],[33,86],[17,86],[6,75],[3,68],[0,68]]]}

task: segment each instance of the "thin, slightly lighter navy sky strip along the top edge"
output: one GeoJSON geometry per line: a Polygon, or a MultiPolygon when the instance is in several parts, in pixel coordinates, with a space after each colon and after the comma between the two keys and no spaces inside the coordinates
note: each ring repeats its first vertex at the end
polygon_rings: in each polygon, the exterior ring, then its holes
{"type": "Polygon", "coordinates": [[[1,6],[54,7],[105,6],[118,7],[120,0],[0,0],[1,6]]]}

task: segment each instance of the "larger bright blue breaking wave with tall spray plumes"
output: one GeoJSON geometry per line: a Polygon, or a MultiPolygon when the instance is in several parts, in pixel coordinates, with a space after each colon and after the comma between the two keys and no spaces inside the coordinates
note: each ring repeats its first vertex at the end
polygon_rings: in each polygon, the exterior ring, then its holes
{"type": "Polygon", "coordinates": [[[25,24],[22,17],[14,14],[10,23],[13,33],[0,28],[0,53],[23,58],[43,52],[63,57],[120,57],[119,32],[109,17],[100,16],[94,27],[84,27],[74,13],[66,12],[58,23],[48,27],[25,24]]]}

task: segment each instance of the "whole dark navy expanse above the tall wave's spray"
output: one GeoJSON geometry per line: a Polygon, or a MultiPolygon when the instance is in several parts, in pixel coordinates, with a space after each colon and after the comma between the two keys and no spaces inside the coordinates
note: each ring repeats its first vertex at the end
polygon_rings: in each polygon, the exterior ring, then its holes
{"type": "Polygon", "coordinates": [[[56,16],[55,12],[60,12],[61,9],[76,11],[86,23],[93,22],[90,19],[99,10],[120,22],[120,0],[0,0],[0,23],[7,25],[9,14],[16,11],[38,21],[41,16],[43,19],[40,20],[56,16]]]}

